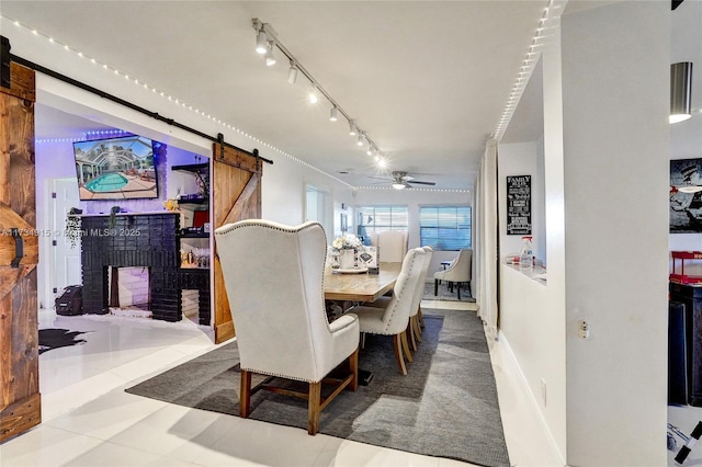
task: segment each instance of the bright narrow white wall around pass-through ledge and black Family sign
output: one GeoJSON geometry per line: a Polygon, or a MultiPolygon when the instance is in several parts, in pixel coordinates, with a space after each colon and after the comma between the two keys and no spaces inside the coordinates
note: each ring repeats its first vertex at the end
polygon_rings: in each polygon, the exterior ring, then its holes
{"type": "MultiPolygon", "coordinates": [[[[546,24],[548,42],[541,48],[543,67],[543,137],[539,141],[499,145],[500,212],[506,206],[506,175],[532,174],[536,255],[547,258],[547,282],[534,281],[500,265],[500,337],[510,349],[534,410],[562,464],[567,458],[565,226],[563,182],[563,106],[559,26],[546,24]],[[542,226],[540,226],[540,224],[542,226]],[[545,397],[544,397],[545,395],[545,397]]],[[[521,248],[521,238],[507,236],[501,215],[500,255],[521,248]]]]}

